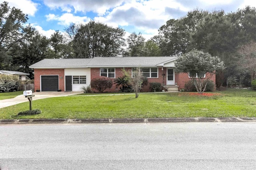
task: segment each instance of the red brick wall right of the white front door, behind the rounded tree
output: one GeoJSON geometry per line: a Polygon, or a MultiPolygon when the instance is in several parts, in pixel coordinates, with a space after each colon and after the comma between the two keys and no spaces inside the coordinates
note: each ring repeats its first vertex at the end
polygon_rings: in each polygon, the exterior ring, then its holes
{"type": "MultiPolygon", "coordinates": [[[[208,78],[210,76],[209,73],[206,74],[206,78],[208,78]]],[[[191,81],[192,79],[188,77],[187,73],[175,73],[175,82],[177,83],[177,85],[179,86],[179,89],[184,89],[185,87],[185,83],[187,81],[191,81]]],[[[212,75],[212,77],[210,78],[211,81],[216,82],[216,75],[212,75]]]]}

